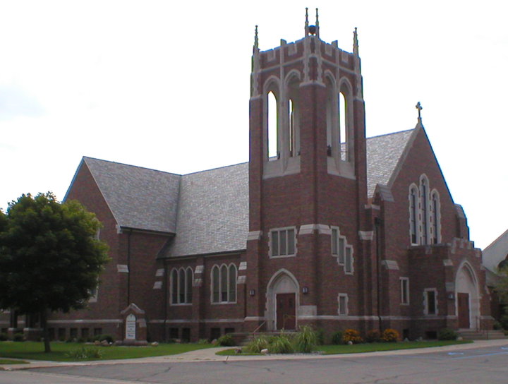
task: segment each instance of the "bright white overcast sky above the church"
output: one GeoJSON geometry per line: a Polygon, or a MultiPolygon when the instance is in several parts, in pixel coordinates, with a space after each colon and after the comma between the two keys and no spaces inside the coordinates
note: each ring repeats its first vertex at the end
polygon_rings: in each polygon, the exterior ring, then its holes
{"type": "Polygon", "coordinates": [[[507,229],[504,1],[0,0],[0,207],[61,199],[83,155],[186,174],[248,160],[254,26],[260,48],[303,37],[352,50],[367,134],[413,128],[416,102],[471,239],[507,229]]]}

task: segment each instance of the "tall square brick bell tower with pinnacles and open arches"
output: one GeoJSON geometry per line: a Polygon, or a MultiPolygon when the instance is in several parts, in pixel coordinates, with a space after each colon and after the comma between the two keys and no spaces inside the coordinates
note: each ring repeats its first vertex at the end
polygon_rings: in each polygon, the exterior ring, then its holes
{"type": "MultiPolygon", "coordinates": [[[[256,26],[250,84],[246,324],[252,321],[248,328],[255,328],[265,321],[270,330],[280,327],[277,299],[270,296],[277,294],[270,289],[279,274],[286,274],[291,280],[287,287],[296,291],[296,325],[326,314],[319,282],[327,269],[336,270],[329,278],[340,284],[354,280],[358,287],[362,280],[358,233],[368,223],[363,215],[365,107],[356,29],[353,52],[346,52],[337,41],[320,39],[317,9],[314,25],[309,25],[306,9],[303,39],[281,40],[279,47],[261,51],[256,26]],[[332,257],[333,228],[349,246],[347,270],[332,257]]],[[[337,296],[332,301],[337,303],[337,296]]],[[[362,303],[359,298],[351,308],[362,303]]]]}

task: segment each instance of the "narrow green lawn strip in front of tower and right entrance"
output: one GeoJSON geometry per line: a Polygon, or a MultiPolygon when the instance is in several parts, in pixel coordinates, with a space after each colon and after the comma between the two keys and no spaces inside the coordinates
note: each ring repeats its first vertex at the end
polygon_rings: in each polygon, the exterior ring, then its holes
{"type": "MultiPolygon", "coordinates": [[[[370,344],[353,344],[353,345],[318,345],[317,352],[323,354],[358,354],[362,352],[376,352],[376,351],[395,351],[397,349],[415,349],[415,348],[428,348],[428,347],[444,347],[445,345],[466,344],[471,341],[430,341],[430,342],[373,342],[370,344]]],[[[234,349],[226,349],[222,352],[217,352],[221,356],[235,355],[234,349]]],[[[259,355],[259,354],[244,354],[244,355],[259,355]]]]}

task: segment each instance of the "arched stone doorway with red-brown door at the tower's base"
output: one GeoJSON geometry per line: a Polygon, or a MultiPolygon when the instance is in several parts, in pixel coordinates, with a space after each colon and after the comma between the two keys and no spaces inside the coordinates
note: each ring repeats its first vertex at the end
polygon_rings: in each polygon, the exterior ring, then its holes
{"type": "Polygon", "coordinates": [[[288,270],[275,273],[267,286],[265,318],[268,330],[295,330],[298,313],[298,282],[288,270]]]}

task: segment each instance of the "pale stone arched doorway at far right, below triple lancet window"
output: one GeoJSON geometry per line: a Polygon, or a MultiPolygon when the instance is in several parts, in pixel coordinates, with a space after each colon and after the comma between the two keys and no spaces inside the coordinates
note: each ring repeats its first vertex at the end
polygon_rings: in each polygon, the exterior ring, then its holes
{"type": "Polygon", "coordinates": [[[480,323],[480,300],[478,279],[467,262],[461,264],[455,280],[456,315],[459,328],[478,328],[480,323]]]}

